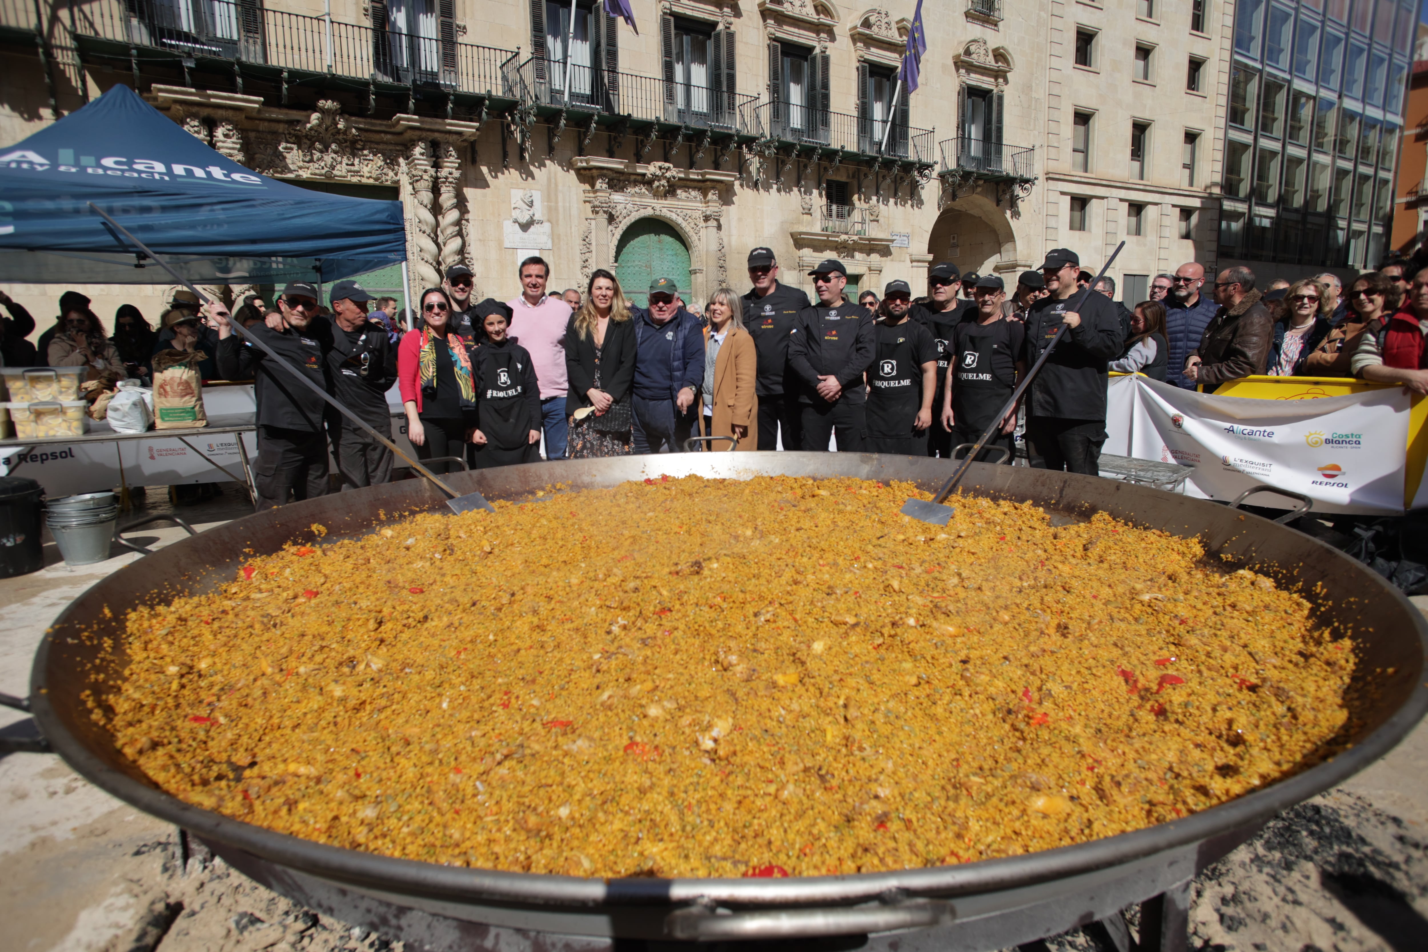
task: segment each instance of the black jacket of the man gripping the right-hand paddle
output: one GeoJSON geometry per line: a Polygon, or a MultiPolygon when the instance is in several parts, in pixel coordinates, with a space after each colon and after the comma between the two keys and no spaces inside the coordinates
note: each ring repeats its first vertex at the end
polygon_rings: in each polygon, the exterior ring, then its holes
{"type": "MultiPolygon", "coordinates": [[[[1027,365],[1061,327],[1061,315],[1075,304],[1080,291],[1060,301],[1044,297],[1027,308],[1027,365]]],[[[1121,355],[1125,338],[1115,305],[1092,291],[1080,305],[1081,323],[1068,330],[1031,383],[1027,412],[1061,420],[1105,420],[1107,364],[1121,355]]]]}

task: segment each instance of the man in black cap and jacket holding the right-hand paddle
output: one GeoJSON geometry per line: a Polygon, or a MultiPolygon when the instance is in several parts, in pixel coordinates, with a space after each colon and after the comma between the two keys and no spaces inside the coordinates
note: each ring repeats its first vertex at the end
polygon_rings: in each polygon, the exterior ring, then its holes
{"type": "Polygon", "coordinates": [[[1027,393],[1027,437],[1047,470],[1097,475],[1105,442],[1107,364],[1121,355],[1124,335],[1104,294],[1088,294],[1080,311],[1068,310],[1080,274],[1081,258],[1068,248],[1052,248],[1041,264],[1050,294],[1027,311],[1022,360],[1031,367],[1062,324],[1067,331],[1027,393]]]}

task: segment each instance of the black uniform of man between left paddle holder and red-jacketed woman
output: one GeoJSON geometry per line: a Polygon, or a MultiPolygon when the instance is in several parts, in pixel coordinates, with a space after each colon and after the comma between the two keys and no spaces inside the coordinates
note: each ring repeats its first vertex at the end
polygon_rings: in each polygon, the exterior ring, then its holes
{"type": "MultiPolygon", "coordinates": [[[[313,321],[316,324],[327,318],[317,317],[313,321]]],[[[397,348],[391,345],[387,325],[367,321],[356,331],[346,331],[333,321],[331,337],[327,368],[333,393],[363,422],[390,440],[391,408],[387,405],[387,391],[397,381],[397,348]]],[[[391,450],[331,408],[327,411],[327,437],[344,485],[361,488],[391,482],[391,450]]]]}

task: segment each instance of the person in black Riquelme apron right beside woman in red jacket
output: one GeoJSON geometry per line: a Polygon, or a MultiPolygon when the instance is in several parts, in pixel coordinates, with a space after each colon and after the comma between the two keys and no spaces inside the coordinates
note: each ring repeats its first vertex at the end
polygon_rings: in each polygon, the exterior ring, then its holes
{"type": "Polygon", "coordinates": [[[506,314],[487,314],[486,343],[471,351],[476,383],[476,468],[540,462],[540,384],[524,347],[506,334],[506,314]]]}

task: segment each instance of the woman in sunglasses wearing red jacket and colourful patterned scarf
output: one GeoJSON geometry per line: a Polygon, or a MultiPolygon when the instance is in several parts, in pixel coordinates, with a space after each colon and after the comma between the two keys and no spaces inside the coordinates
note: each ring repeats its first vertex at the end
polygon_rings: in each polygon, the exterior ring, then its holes
{"type": "MultiPolygon", "coordinates": [[[[466,458],[467,434],[476,431],[476,383],[466,341],[451,325],[451,300],[441,288],[420,298],[421,323],[397,347],[397,385],[407,412],[407,440],[418,460],[466,458]]],[[[431,471],[450,472],[454,462],[431,471]]]]}

